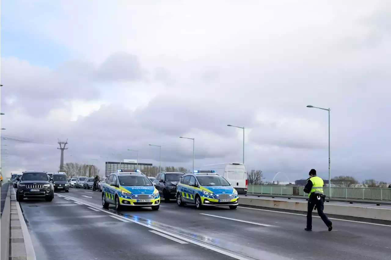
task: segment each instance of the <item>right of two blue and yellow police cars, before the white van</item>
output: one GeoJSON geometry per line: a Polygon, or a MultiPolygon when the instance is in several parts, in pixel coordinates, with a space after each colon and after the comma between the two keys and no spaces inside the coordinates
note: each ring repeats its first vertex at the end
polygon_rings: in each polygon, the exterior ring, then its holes
{"type": "Polygon", "coordinates": [[[178,206],[195,204],[198,209],[213,206],[229,206],[236,209],[239,205],[238,192],[214,170],[194,171],[183,175],[176,186],[178,206]]]}

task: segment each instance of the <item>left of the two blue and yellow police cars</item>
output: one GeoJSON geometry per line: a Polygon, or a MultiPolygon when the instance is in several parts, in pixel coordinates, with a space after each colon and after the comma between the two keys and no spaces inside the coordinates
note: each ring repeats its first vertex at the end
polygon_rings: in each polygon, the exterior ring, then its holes
{"type": "Polygon", "coordinates": [[[140,170],[118,170],[107,176],[102,188],[102,205],[108,209],[110,204],[114,204],[116,210],[124,206],[158,210],[160,195],[151,180],[140,170]]]}

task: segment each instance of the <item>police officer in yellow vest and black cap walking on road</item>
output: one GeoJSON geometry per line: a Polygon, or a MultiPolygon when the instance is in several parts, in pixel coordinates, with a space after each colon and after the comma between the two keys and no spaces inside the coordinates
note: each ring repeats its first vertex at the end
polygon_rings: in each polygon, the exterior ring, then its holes
{"type": "Polygon", "coordinates": [[[304,187],[304,192],[308,193],[307,227],[304,230],[312,230],[312,210],[316,208],[319,217],[321,217],[328,227],[328,231],[331,231],[333,229],[332,223],[327,218],[326,214],[323,213],[325,203],[325,195],[323,194],[324,182],[322,178],[316,176],[315,169],[311,169],[309,175],[310,178],[307,179],[307,185],[304,187]]]}

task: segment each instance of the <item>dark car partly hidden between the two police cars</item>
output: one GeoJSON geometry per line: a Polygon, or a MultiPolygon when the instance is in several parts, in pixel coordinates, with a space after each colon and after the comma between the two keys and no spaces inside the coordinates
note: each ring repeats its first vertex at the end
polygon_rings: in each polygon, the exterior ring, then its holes
{"type": "Polygon", "coordinates": [[[153,181],[156,189],[159,191],[160,196],[164,198],[165,202],[169,202],[170,199],[176,198],[176,185],[181,180],[181,177],[185,173],[166,173],[161,172],[156,175],[156,179],[153,181]]]}

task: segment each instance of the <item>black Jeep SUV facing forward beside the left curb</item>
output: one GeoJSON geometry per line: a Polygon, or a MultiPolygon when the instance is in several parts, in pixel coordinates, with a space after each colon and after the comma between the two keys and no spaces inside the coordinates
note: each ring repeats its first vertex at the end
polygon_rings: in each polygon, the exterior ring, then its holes
{"type": "Polygon", "coordinates": [[[19,178],[16,190],[16,200],[27,199],[45,199],[52,201],[54,198],[54,188],[51,178],[45,172],[26,171],[19,178]]]}

